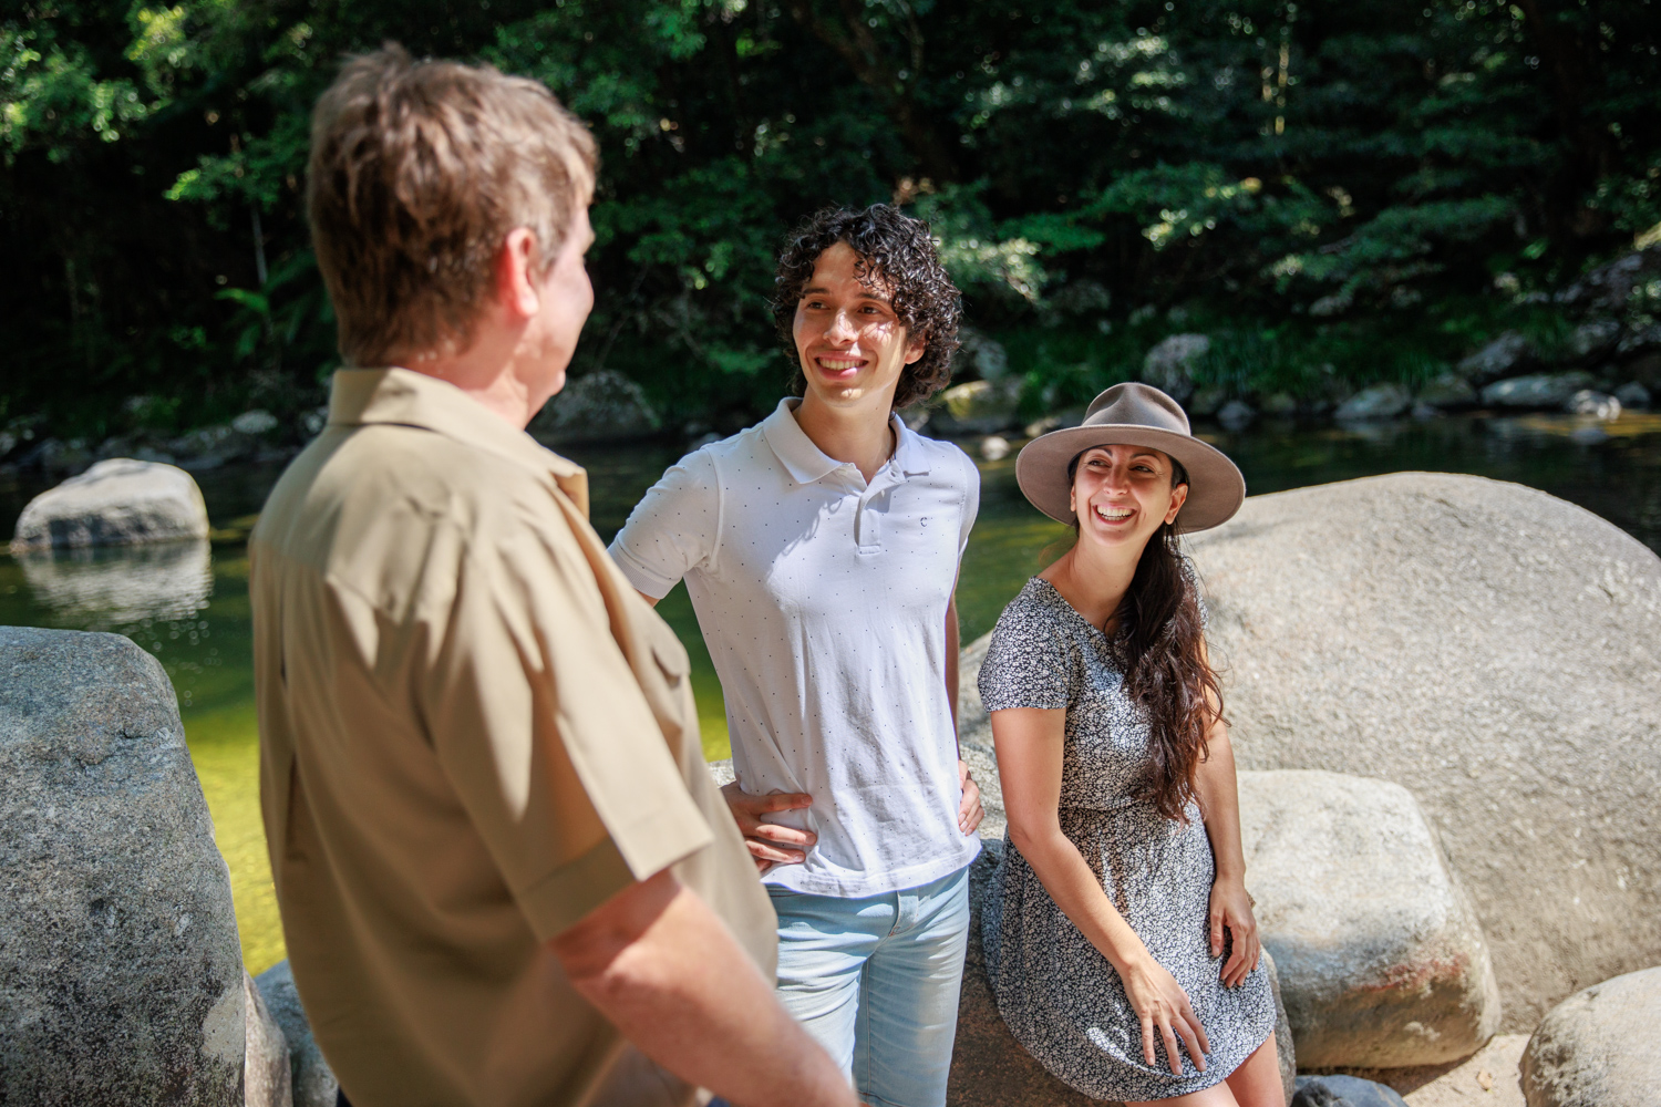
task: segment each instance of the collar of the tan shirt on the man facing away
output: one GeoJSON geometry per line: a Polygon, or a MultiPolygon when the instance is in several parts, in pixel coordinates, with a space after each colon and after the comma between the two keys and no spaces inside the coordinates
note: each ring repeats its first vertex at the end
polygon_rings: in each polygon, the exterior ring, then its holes
{"type": "Polygon", "coordinates": [[[588,516],[588,473],[580,465],[540,445],[523,430],[515,430],[447,380],[409,368],[336,370],[329,388],[329,422],[341,427],[420,427],[453,438],[537,473],[551,475],[560,491],[588,516]]]}

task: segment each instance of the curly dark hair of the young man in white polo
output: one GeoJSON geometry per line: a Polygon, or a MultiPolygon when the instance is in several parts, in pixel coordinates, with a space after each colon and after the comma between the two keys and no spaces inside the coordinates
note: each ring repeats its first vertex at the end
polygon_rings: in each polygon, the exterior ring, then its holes
{"type": "Polygon", "coordinates": [[[821,207],[807,217],[779,251],[779,274],[772,287],[772,320],[779,327],[786,355],[797,365],[796,305],[814,276],[814,262],[837,242],[847,242],[859,256],[859,279],[889,287],[889,304],[905,324],[907,334],[928,342],[924,355],[905,367],[894,390],[894,407],[907,408],[940,392],[952,382],[952,352],[957,350],[957,324],[963,317],[962,297],[945,274],[935,252],[928,224],[912,219],[889,204],[872,204],[865,211],[821,207]]]}

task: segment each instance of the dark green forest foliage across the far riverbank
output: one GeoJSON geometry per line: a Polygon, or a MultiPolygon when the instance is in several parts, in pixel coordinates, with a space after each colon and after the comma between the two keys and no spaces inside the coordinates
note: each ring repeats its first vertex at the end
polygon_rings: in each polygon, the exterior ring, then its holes
{"type": "Polygon", "coordinates": [[[540,78],[593,126],[573,372],[681,420],[787,382],[772,256],[821,204],[928,217],[1045,402],[1173,315],[1241,335],[1241,388],[1423,375],[1550,330],[1541,292],[1661,222],[1649,0],[161,2],[0,22],[0,423],[319,403],[309,110],[387,38],[540,78]]]}

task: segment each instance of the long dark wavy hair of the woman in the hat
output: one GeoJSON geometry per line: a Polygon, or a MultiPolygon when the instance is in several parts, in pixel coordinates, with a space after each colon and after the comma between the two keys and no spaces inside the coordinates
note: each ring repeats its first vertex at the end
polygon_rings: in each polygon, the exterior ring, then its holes
{"type": "MultiPolygon", "coordinates": [[[[1081,456],[1066,466],[1068,485],[1081,456]]],[[[1188,473],[1171,458],[1171,488],[1186,483],[1188,473]]],[[[1211,755],[1206,734],[1213,724],[1227,722],[1222,687],[1203,652],[1198,584],[1176,526],[1161,523],[1115,612],[1113,649],[1124,672],[1124,694],[1148,720],[1148,777],[1139,798],[1176,822],[1188,822],[1184,808],[1199,798],[1199,765],[1211,755]]]]}

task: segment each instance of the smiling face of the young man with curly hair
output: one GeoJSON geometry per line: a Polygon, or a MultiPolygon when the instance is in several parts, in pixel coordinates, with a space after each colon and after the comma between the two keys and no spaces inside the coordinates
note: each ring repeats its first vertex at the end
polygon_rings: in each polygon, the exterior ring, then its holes
{"type": "Polygon", "coordinates": [[[859,254],[847,242],[827,247],[796,304],[796,357],[814,400],[835,407],[892,405],[900,372],[924,355],[894,314],[882,280],[859,279],[859,254]]]}

